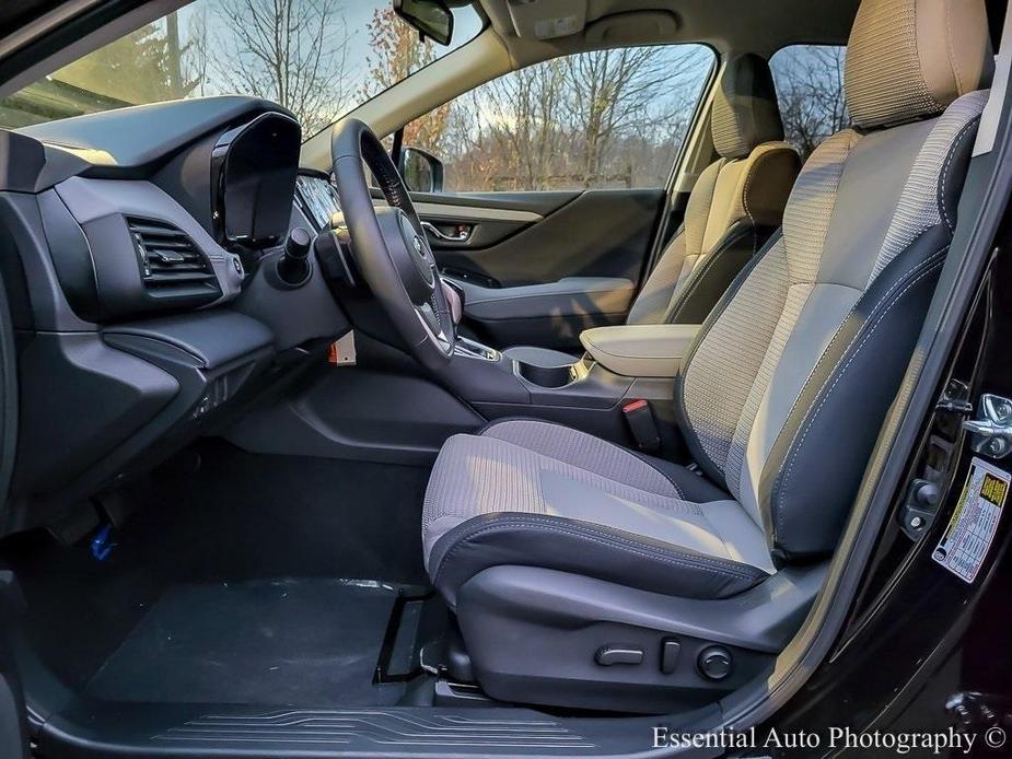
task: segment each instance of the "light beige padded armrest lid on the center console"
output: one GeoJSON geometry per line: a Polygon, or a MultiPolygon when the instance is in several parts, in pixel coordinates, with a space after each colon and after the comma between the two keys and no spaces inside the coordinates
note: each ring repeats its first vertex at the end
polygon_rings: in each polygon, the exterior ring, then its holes
{"type": "Polygon", "coordinates": [[[584,330],[580,342],[597,363],[615,374],[674,377],[698,331],[698,324],[597,327],[584,330]]]}

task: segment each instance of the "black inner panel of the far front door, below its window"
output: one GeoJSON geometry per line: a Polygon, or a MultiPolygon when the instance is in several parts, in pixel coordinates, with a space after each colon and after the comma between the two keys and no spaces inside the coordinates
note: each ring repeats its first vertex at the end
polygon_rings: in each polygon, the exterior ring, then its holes
{"type": "Polygon", "coordinates": [[[412,195],[441,269],[468,284],[475,305],[465,304],[465,326],[497,347],[561,349],[578,349],[583,329],[625,319],[664,197],[662,189],[412,195]],[[580,291],[581,281],[593,287],[580,291]]]}

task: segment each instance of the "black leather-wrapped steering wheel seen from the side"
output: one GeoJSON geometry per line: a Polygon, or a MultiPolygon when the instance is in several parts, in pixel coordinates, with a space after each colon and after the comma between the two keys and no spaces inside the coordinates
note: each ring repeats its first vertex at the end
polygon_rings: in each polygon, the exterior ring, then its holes
{"type": "Polygon", "coordinates": [[[435,369],[456,330],[435,258],[400,174],[367,124],[346,119],[330,140],[334,177],[354,260],[407,349],[435,369]],[[377,208],[365,167],[386,198],[377,208]]]}

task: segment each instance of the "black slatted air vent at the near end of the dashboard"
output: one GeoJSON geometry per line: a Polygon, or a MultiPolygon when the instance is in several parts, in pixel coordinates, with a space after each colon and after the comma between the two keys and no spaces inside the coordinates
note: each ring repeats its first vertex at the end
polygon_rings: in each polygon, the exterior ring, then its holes
{"type": "Polygon", "coordinates": [[[210,261],[183,230],[151,219],[127,219],[144,287],[152,295],[220,293],[210,261]]]}

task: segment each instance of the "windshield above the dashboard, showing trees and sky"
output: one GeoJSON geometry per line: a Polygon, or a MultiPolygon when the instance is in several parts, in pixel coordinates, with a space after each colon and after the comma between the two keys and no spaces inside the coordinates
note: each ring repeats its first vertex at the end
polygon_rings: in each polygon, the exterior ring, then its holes
{"type": "Polygon", "coordinates": [[[241,94],[289,108],[310,136],[481,31],[421,43],[389,0],[195,0],[0,100],[0,127],[182,97],[241,94]]]}

